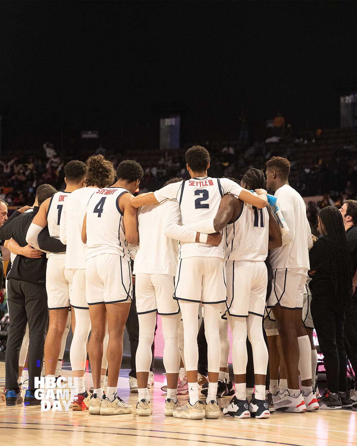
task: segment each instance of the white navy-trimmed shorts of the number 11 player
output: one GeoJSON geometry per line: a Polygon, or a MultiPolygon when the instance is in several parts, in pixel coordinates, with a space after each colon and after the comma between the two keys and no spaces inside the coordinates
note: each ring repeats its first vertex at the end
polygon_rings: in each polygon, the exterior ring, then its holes
{"type": "Polygon", "coordinates": [[[228,260],[227,314],[247,318],[248,314],[264,316],[268,272],[264,262],[228,260]]]}

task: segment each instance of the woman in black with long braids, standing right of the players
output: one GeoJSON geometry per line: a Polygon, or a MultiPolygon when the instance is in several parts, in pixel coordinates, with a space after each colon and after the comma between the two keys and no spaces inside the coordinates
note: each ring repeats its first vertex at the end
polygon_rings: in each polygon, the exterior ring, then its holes
{"type": "Polygon", "coordinates": [[[324,207],[319,214],[322,237],[310,249],[309,284],[311,315],[324,355],[327,388],[321,409],[351,407],[347,393],[347,362],[344,347],[345,311],[351,304],[351,252],[340,211],[324,207]]]}

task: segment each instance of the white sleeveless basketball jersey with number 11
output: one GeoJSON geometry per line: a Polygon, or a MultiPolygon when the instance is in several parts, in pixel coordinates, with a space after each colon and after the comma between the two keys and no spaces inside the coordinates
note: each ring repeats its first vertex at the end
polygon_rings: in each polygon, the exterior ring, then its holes
{"type": "Polygon", "coordinates": [[[226,225],[224,254],[227,260],[263,262],[268,256],[269,212],[242,202],[237,219],[226,225]]]}

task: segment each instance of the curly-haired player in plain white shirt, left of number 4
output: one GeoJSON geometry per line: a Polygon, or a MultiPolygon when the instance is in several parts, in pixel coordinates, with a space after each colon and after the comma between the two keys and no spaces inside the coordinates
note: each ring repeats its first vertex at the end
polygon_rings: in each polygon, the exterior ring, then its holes
{"type": "MultiPolygon", "coordinates": [[[[86,299],[86,245],[82,242],[82,225],[89,198],[99,189],[113,184],[115,170],[103,155],[93,155],[86,161],[86,187],[77,189],[66,198],[59,224],[59,236],[66,244],[66,271],[73,271],[71,308],[75,317],[75,329],[70,349],[73,376],[77,378],[76,400],[72,410],[89,409],[90,398],[84,386],[84,372],[87,361],[87,340],[91,330],[86,299]]],[[[108,330],[104,337],[101,370],[101,387],[106,383],[108,330]]]]}

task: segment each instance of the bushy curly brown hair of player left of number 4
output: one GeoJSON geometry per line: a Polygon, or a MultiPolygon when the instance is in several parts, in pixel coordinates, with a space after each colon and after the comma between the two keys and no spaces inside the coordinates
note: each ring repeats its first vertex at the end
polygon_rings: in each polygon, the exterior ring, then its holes
{"type": "Polygon", "coordinates": [[[114,183],[115,170],[113,164],[103,155],[92,155],[86,161],[86,185],[100,188],[108,187],[114,183]]]}

